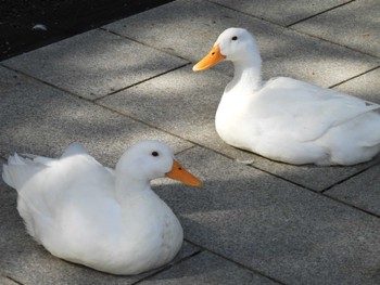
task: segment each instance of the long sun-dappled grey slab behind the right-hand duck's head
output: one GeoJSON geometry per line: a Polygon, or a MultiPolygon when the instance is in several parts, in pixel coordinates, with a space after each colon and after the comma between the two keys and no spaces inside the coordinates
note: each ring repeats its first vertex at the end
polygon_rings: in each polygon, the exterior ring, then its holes
{"type": "MultiPolygon", "coordinates": [[[[291,76],[329,87],[380,63],[379,59],[207,1],[174,1],[104,28],[197,63],[208,53],[217,36],[233,26],[244,27],[256,36],[266,79],[291,76]]],[[[213,68],[233,74],[230,64],[220,63],[213,68]]]]}

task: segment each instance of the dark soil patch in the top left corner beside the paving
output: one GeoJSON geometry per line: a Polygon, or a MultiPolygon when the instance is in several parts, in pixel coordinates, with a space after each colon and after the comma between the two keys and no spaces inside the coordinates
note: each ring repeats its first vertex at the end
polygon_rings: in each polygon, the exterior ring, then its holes
{"type": "Polygon", "coordinates": [[[170,1],[0,0],[0,61],[170,1]]]}

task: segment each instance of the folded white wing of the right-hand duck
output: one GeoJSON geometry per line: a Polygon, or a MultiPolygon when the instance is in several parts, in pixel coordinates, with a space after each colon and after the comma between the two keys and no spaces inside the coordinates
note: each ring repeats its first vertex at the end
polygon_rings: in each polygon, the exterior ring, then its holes
{"type": "MultiPolygon", "coordinates": [[[[317,140],[329,129],[380,108],[378,104],[286,77],[268,81],[259,98],[265,128],[271,126],[273,131],[287,132],[300,142],[317,140]]],[[[376,124],[380,126],[380,120],[376,124]]]]}

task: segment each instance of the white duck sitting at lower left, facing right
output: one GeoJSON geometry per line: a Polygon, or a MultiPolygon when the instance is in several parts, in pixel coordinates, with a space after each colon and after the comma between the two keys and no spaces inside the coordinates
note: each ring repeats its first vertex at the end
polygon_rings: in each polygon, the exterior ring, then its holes
{"type": "Polygon", "coordinates": [[[201,185],[157,141],[130,147],[115,170],[74,144],[58,159],[15,154],[2,173],[17,190],[18,212],[38,243],[56,257],[113,274],[159,268],[180,249],[182,228],[150,187],[164,176],[201,185]]]}

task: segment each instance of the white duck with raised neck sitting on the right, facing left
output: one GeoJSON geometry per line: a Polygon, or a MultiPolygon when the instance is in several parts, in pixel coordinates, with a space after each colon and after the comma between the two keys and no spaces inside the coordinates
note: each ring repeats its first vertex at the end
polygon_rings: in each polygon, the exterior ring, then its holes
{"type": "Polygon", "coordinates": [[[295,165],[354,165],[379,152],[380,105],[287,77],[262,82],[255,39],[242,28],[221,33],[193,70],[224,60],[235,76],[215,125],[228,144],[295,165]]]}

